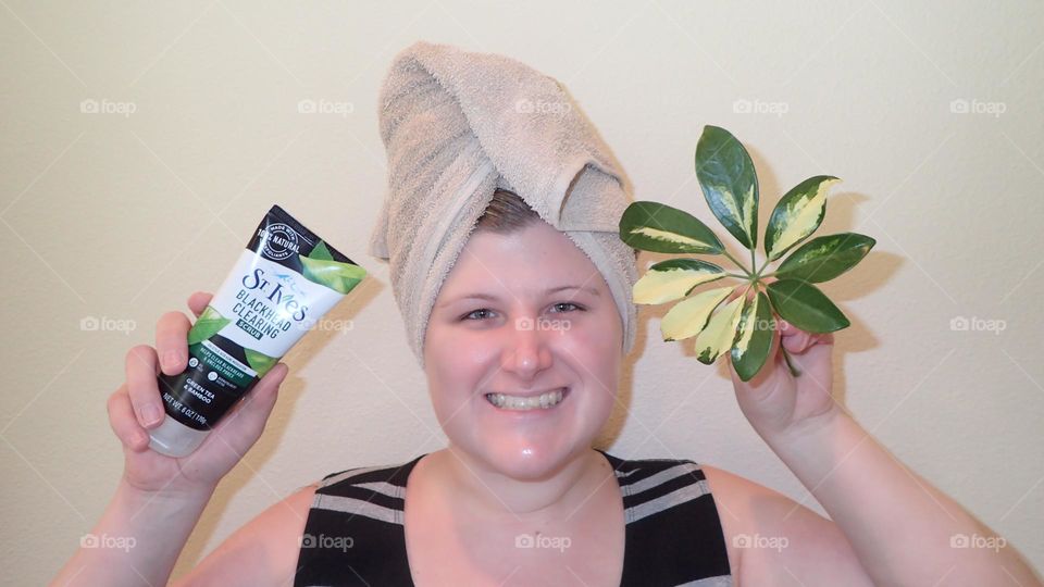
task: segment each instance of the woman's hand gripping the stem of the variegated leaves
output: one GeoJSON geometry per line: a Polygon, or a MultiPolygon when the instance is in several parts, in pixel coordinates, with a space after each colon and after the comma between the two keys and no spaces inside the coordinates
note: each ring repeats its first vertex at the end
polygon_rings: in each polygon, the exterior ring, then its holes
{"type": "Polygon", "coordinates": [[[841,411],[832,397],[833,334],[806,333],[779,316],[773,317],[776,328],[772,333],[772,348],[757,375],[743,382],[732,361],[725,360],[739,410],[766,439],[824,423],[841,411]],[[799,372],[797,377],[791,374],[780,345],[799,372]]]}

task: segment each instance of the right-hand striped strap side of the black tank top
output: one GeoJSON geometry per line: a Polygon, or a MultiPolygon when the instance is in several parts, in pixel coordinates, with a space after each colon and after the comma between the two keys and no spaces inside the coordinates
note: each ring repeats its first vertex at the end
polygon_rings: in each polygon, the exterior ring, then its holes
{"type": "Polygon", "coordinates": [[[621,585],[731,586],[724,532],[699,465],[598,452],[612,465],[623,497],[621,585]]]}

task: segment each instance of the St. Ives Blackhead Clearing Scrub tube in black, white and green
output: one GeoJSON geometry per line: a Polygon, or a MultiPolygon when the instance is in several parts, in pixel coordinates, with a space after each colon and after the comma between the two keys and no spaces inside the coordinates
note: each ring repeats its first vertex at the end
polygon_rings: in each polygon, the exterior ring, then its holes
{"type": "Polygon", "coordinates": [[[278,205],[265,214],[188,333],[188,366],[160,374],[166,407],[149,446],[185,457],[366,275],[278,205]]]}

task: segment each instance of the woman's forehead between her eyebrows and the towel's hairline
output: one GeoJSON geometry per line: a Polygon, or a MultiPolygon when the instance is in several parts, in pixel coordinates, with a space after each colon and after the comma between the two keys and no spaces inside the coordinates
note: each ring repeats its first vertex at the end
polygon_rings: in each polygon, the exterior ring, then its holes
{"type": "Polygon", "coordinates": [[[608,295],[597,267],[569,237],[546,222],[510,234],[475,230],[450,270],[439,298],[472,290],[543,292],[576,285],[608,295]]]}

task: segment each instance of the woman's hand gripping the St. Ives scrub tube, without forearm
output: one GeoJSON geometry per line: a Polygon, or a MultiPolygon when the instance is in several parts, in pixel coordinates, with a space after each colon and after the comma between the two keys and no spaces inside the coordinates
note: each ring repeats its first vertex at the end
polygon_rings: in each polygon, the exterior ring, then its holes
{"type": "MultiPolygon", "coordinates": [[[[188,307],[198,317],[211,298],[192,294],[188,307]]],[[[156,348],[141,345],[127,352],[126,382],[109,397],[109,424],[123,444],[123,480],[144,492],[213,491],[261,436],[286,377],[286,364],[272,367],[191,454],[173,458],[156,452],[149,448],[148,430],[165,414],[157,377],[161,369],[167,375],[185,370],[190,327],[182,312],[163,314],[156,326],[156,348]]]]}

